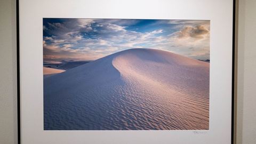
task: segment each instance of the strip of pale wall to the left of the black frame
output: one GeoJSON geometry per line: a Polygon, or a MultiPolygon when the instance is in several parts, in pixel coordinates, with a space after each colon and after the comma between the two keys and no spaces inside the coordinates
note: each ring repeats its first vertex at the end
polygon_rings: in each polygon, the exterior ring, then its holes
{"type": "Polygon", "coordinates": [[[0,143],[17,143],[15,1],[0,1],[0,143]]]}

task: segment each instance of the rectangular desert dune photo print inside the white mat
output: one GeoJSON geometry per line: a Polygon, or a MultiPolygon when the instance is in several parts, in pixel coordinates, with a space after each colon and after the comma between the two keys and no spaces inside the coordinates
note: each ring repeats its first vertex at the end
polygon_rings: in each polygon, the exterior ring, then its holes
{"type": "Polygon", "coordinates": [[[210,20],[43,18],[44,130],[209,130],[210,20]]]}

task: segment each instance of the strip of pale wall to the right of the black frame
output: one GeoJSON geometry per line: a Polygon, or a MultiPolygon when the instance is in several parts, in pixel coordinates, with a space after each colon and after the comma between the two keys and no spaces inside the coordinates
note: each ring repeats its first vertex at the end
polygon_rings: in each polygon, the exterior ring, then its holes
{"type": "Polygon", "coordinates": [[[256,141],[256,1],[239,0],[237,144],[256,141]]]}

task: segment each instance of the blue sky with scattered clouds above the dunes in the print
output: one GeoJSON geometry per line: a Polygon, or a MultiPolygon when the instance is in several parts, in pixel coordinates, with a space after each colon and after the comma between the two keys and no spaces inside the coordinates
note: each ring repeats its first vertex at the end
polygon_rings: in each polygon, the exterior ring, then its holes
{"type": "Polygon", "coordinates": [[[210,59],[210,21],[43,19],[44,61],[96,60],[133,48],[210,59]]]}

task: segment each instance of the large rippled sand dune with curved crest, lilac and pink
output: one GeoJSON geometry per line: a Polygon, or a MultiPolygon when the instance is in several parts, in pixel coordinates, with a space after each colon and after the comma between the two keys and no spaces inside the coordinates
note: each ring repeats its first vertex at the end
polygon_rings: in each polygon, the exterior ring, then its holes
{"type": "Polygon", "coordinates": [[[130,49],[44,78],[45,130],[207,130],[210,63],[130,49]]]}

